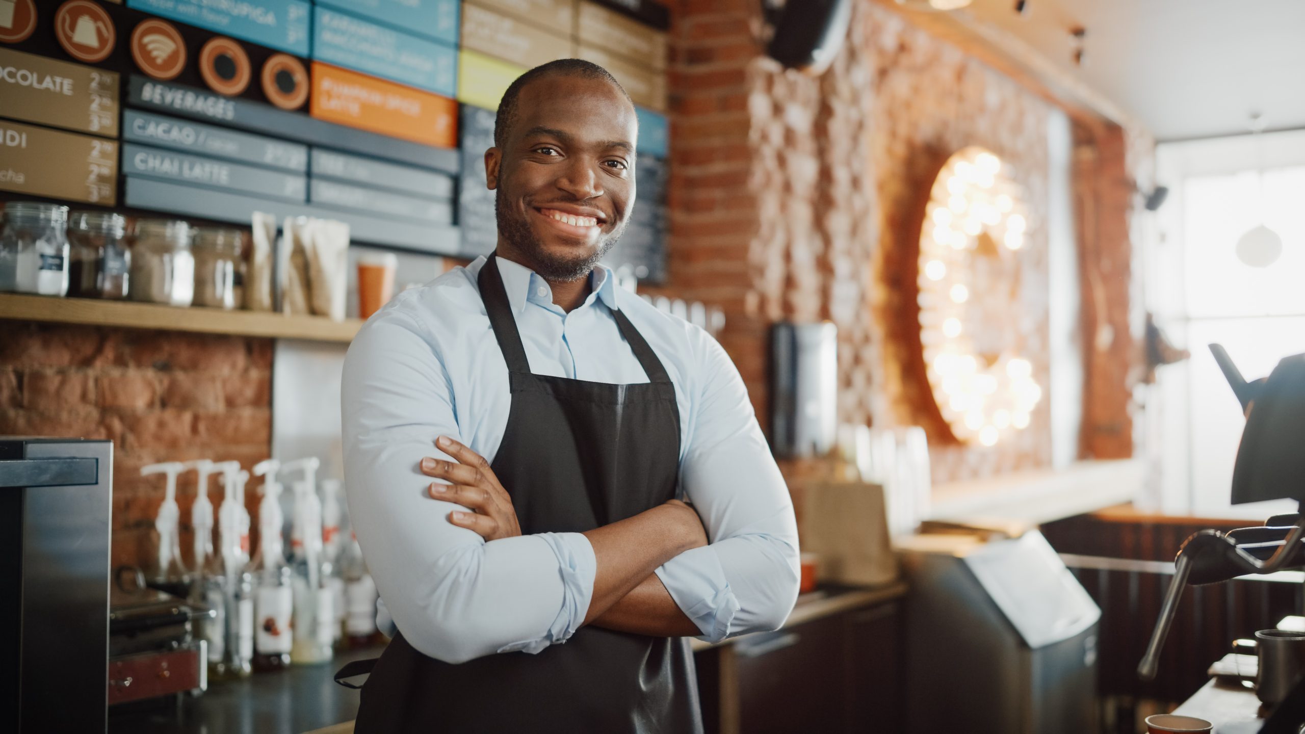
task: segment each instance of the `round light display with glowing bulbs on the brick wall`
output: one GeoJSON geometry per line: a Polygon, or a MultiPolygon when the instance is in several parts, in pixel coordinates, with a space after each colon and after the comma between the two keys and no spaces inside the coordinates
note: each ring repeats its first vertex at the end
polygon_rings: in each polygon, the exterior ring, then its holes
{"type": "Polygon", "coordinates": [[[1027,428],[1043,396],[1014,312],[1027,229],[1009,165],[977,146],[947,159],[920,230],[920,345],[933,400],[962,441],[993,445],[1027,428]]]}

